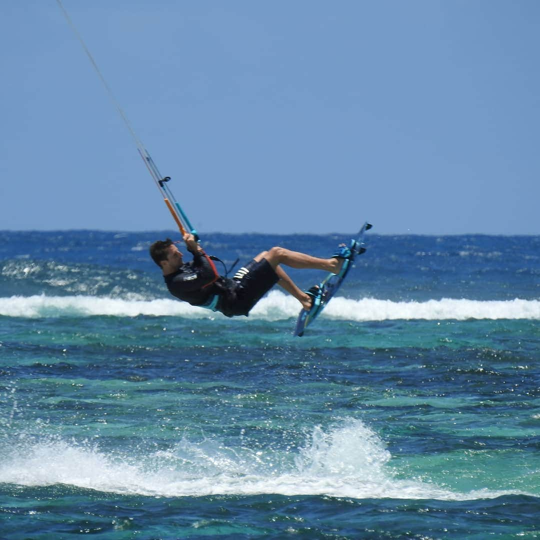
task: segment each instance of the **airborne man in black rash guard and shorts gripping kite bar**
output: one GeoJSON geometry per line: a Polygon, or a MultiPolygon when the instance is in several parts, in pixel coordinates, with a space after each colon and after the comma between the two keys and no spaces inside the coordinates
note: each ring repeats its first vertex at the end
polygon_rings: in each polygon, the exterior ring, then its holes
{"type": "Polygon", "coordinates": [[[281,265],[338,273],[343,260],[351,255],[345,245],[340,245],[329,259],[319,259],[276,246],[259,253],[231,279],[219,275],[193,234],[185,233],[184,242],[187,251],[193,255],[192,262],[184,262],[183,254],[170,238],[158,240],[150,246],[150,255],[161,268],[169,292],[192,306],[206,307],[228,317],[247,316],[276,283],[291,293],[304,309],[309,310],[318,288],[301,291],[281,265]]]}

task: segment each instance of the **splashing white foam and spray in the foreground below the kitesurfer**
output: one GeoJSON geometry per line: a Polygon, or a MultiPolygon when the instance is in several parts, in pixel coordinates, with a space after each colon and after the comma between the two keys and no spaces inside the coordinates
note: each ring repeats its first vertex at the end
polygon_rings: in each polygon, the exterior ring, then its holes
{"type": "MultiPolygon", "coordinates": [[[[220,441],[183,438],[173,448],[140,456],[107,454],[96,444],[61,438],[17,441],[0,464],[0,483],[68,484],[120,494],[150,496],[328,495],[353,498],[470,500],[507,491],[468,494],[418,480],[396,480],[390,454],[360,420],[315,427],[305,446],[289,451],[236,448],[220,441]]],[[[3,453],[4,453],[3,451],[3,453]]]]}

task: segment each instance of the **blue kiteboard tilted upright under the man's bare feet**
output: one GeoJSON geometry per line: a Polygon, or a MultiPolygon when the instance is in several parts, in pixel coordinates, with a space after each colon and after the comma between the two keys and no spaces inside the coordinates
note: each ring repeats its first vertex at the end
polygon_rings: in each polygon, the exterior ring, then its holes
{"type": "Polygon", "coordinates": [[[317,294],[313,299],[311,309],[302,309],[300,312],[298,320],[296,321],[293,335],[299,337],[302,336],[305,329],[317,318],[319,313],[321,313],[321,311],[326,307],[332,296],[338,292],[343,280],[346,278],[350,268],[353,266],[356,255],[361,255],[366,251],[363,236],[366,231],[370,230],[370,228],[372,228],[372,225],[366,221],[356,235],[356,239],[353,238],[349,242],[348,247],[350,249],[350,257],[343,261],[340,272],[338,274],[329,273],[326,278],[320,282],[319,294],[317,294]]]}

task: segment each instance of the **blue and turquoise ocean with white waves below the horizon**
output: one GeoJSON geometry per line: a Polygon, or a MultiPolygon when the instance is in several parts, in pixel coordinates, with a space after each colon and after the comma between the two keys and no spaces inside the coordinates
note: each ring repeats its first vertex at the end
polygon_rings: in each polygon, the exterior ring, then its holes
{"type": "Polygon", "coordinates": [[[0,538],[540,537],[540,236],[375,231],[302,338],[169,296],[178,233],[0,232],[0,538]]]}

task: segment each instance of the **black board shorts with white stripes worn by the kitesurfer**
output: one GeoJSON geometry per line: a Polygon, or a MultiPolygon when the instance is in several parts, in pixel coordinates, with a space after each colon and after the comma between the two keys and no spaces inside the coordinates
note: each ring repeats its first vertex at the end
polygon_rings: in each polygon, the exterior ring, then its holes
{"type": "Polygon", "coordinates": [[[220,311],[228,317],[247,316],[249,310],[278,281],[278,274],[266,259],[261,259],[259,262],[252,259],[234,274],[232,286],[227,298],[221,303],[220,311]]]}

